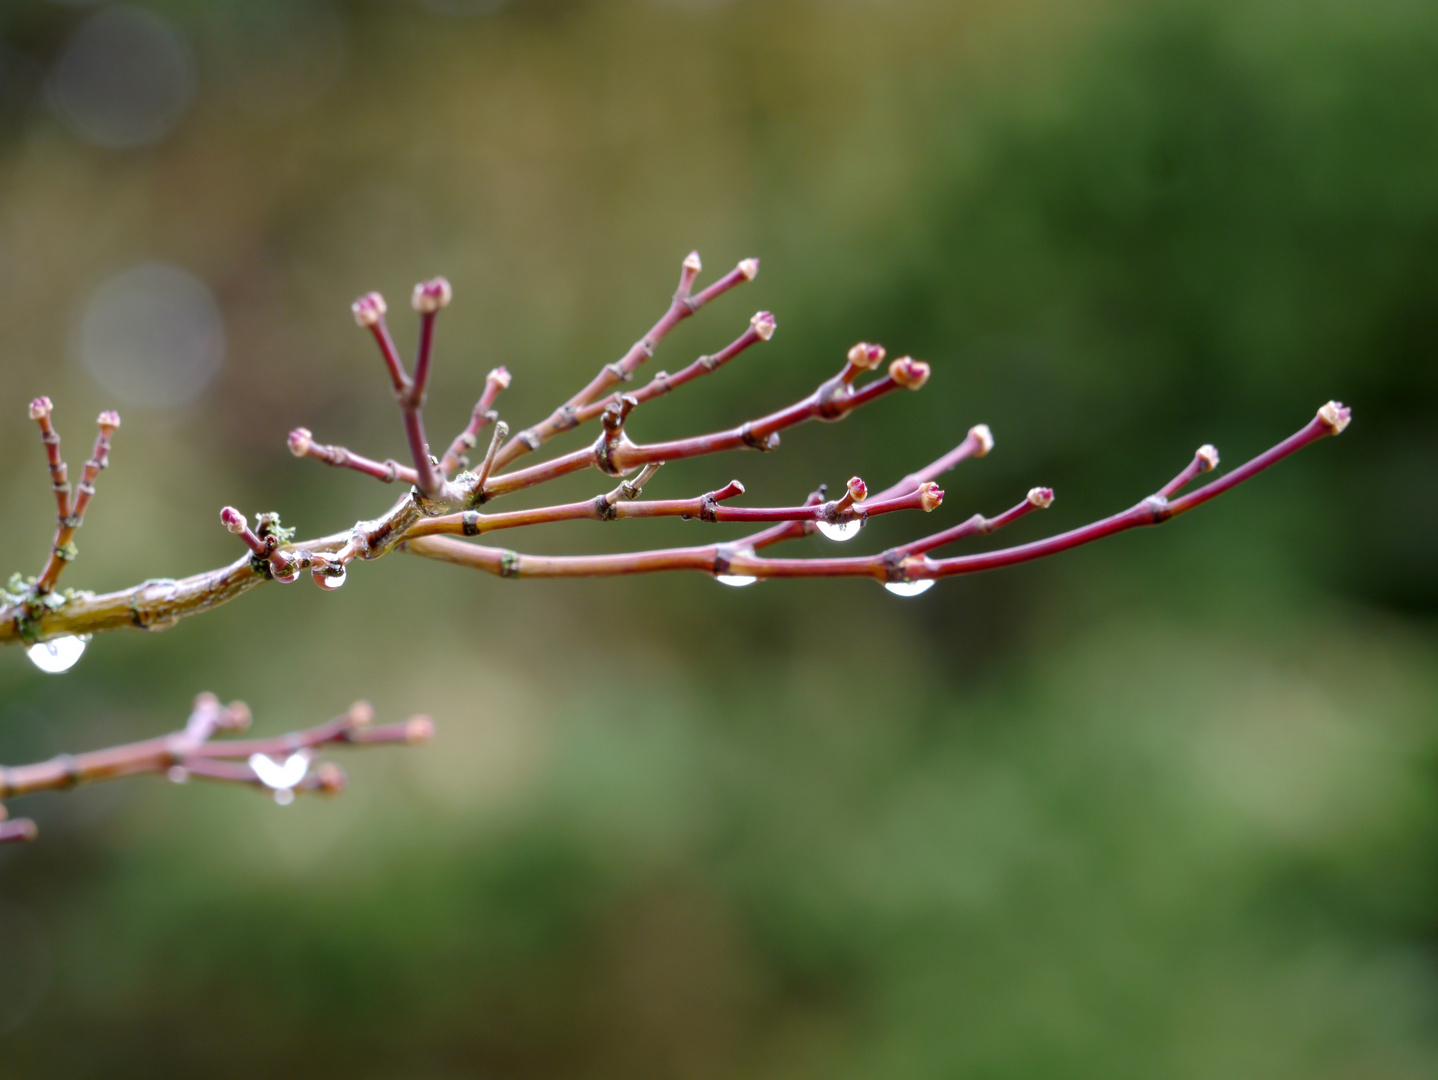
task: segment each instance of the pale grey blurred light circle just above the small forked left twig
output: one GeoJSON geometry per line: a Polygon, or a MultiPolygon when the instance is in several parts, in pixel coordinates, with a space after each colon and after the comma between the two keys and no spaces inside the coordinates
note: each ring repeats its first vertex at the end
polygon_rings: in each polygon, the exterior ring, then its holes
{"type": "Polygon", "coordinates": [[[224,322],[204,282],[145,263],[101,285],[81,318],[76,352],[125,404],[174,408],[198,397],[224,360],[224,322]]]}

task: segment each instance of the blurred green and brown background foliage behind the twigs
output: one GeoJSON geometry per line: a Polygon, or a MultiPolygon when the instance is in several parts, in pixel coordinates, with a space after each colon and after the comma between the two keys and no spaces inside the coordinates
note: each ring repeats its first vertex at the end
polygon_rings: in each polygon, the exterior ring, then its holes
{"type": "Polygon", "coordinates": [[[935,374],[657,498],[883,486],[986,421],[923,525],[1054,485],[1018,542],[1202,441],[1232,466],[1330,397],[1356,418],[1163,529],[916,600],[395,557],[63,676],[7,650],[13,764],[201,689],[260,732],[368,697],[440,735],[283,810],[13,800],[42,840],[0,850],[0,1074],[1438,1074],[1432,3],[10,0],[0,569],[49,544],[35,394],[72,469],[124,413],[68,584],[178,577],[236,557],[223,503],[313,535],[393,498],[285,452],[403,454],[360,292],[408,348],[410,285],[453,282],[439,441],[495,364],[503,414],[545,414],[690,247],[764,270],[654,367],[779,331],[636,437],[787,404],[860,338],[935,374]],[[134,311],[170,329],[127,354],[134,311]]]}

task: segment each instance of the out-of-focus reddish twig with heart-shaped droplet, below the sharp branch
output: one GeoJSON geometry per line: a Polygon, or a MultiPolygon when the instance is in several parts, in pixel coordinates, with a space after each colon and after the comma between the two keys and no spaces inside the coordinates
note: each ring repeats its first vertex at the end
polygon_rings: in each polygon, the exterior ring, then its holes
{"type": "MultiPolygon", "coordinates": [[[[427,716],[381,726],[371,726],[372,718],[370,705],[357,702],[328,723],[308,731],[224,741],[216,736],[249,728],[250,710],[242,702],[220,705],[214,695],[201,693],[194,699],[186,726],[173,735],[89,754],[65,754],[35,765],[0,766],[0,800],[147,772],[165,774],[175,782],[198,778],[260,787],[273,791],[280,802],[288,802],[295,791],[335,794],[345,787],[344,771],[328,762],[313,764],[313,751],[335,745],[417,743],[434,735],[434,723],[427,716]],[[285,761],[276,761],[280,756],[285,761]]],[[[0,843],[33,838],[35,823],[4,821],[0,807],[0,843]]]]}

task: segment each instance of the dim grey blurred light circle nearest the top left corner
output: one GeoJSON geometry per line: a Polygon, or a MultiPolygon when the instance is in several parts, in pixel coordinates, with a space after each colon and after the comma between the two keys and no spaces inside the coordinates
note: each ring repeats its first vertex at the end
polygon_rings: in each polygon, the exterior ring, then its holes
{"type": "Polygon", "coordinates": [[[85,20],[46,83],[55,111],[101,147],[144,147],[164,137],[194,98],[190,46],[168,22],[135,7],[85,20]]]}

